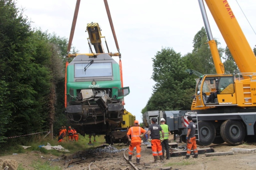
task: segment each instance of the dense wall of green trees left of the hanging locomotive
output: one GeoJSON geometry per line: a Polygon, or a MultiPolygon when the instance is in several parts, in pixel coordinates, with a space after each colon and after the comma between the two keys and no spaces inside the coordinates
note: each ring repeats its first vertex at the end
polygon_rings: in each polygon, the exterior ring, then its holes
{"type": "MultiPolygon", "coordinates": [[[[68,40],[31,30],[22,12],[14,1],[0,0],[0,143],[6,137],[49,131],[53,123],[66,123],[68,40]]],[[[59,127],[54,129],[57,132],[59,127]]]]}

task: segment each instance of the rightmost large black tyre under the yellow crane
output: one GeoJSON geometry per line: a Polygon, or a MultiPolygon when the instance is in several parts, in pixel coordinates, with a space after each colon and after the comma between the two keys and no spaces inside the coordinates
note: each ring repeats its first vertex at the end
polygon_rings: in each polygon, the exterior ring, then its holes
{"type": "Polygon", "coordinates": [[[226,120],[220,126],[221,137],[230,145],[241,144],[245,133],[244,124],[238,120],[226,120]]]}

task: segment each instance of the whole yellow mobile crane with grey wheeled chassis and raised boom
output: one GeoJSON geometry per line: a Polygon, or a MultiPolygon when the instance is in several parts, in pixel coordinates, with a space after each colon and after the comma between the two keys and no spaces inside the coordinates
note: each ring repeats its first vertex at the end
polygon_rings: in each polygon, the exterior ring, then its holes
{"type": "MultiPolygon", "coordinates": [[[[186,142],[186,117],[197,125],[198,145],[238,145],[256,139],[256,58],[227,0],[205,0],[219,30],[240,70],[224,74],[217,45],[212,38],[203,0],[198,0],[217,74],[198,74],[191,110],[170,111],[173,133],[186,142]],[[211,93],[213,93],[211,95],[211,93]],[[212,102],[208,98],[214,97],[212,102]],[[208,102],[207,102],[208,101],[208,102]]],[[[166,111],[165,111],[166,112],[166,111]]],[[[160,117],[161,118],[161,117],[160,117]]]]}

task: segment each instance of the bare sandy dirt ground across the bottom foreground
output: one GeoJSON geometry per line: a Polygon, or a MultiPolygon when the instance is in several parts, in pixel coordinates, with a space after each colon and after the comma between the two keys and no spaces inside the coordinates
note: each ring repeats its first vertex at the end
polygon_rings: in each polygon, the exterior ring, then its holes
{"type": "MultiPolygon", "coordinates": [[[[117,146],[117,145],[114,145],[117,146]]],[[[122,146],[117,146],[117,148],[121,148],[122,146]]],[[[221,145],[210,145],[210,147],[214,148],[215,152],[226,152],[231,148],[246,148],[246,149],[255,149],[256,144],[244,144],[238,146],[229,146],[224,143],[221,145]]],[[[128,146],[123,146],[123,148],[128,148],[128,146]]],[[[85,156],[85,159],[92,159],[93,163],[91,165],[92,170],[104,169],[104,170],[119,170],[119,169],[132,169],[123,157],[123,152],[113,152],[113,153],[91,153],[90,155],[85,156]],[[90,158],[91,157],[91,158],[90,158]]],[[[136,151],[134,151],[136,155],[136,151]]],[[[68,154],[66,154],[68,155],[68,154]]],[[[126,151],[125,155],[128,157],[128,152],[126,151]]],[[[132,162],[136,162],[136,156],[132,156],[132,162]]],[[[213,169],[246,169],[252,170],[256,169],[256,154],[255,153],[235,153],[233,155],[226,156],[204,156],[204,154],[199,154],[198,159],[190,158],[183,159],[182,157],[171,157],[170,160],[165,160],[165,163],[152,163],[153,156],[151,149],[147,148],[147,145],[141,146],[141,160],[140,162],[143,165],[137,166],[139,169],[150,169],[150,170],[158,170],[164,168],[166,166],[171,166],[172,169],[190,169],[190,170],[213,170],[213,169]],[[145,166],[144,163],[150,163],[148,166],[145,166]],[[177,163],[178,165],[170,165],[170,163],[177,163]],[[169,165],[168,165],[169,164],[169,165]]],[[[4,159],[14,159],[21,164],[24,169],[33,170],[31,167],[33,161],[41,161],[50,162],[52,166],[59,166],[61,169],[67,170],[87,170],[90,162],[86,163],[74,163],[68,166],[68,168],[64,168],[65,163],[69,158],[60,161],[51,161],[52,159],[57,158],[56,156],[50,154],[41,154],[41,153],[22,153],[18,155],[7,155],[0,157],[4,159]],[[41,158],[43,156],[44,158],[41,158]]],[[[69,159],[70,160],[70,159],[69,159]]],[[[2,163],[2,162],[0,162],[2,163]]]]}

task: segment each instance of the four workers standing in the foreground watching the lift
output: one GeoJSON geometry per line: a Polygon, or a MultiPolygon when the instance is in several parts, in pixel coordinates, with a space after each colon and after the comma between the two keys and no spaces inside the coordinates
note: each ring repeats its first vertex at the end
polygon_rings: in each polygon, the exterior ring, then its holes
{"type": "MultiPolygon", "coordinates": [[[[170,159],[170,151],[169,151],[169,141],[168,137],[171,134],[170,128],[167,124],[165,124],[165,119],[161,118],[161,125],[156,124],[156,118],[151,118],[151,125],[148,127],[148,142],[151,142],[152,154],[154,157],[154,163],[158,162],[158,156],[161,162],[164,162],[164,150],[166,150],[166,159],[170,159]],[[162,136],[160,137],[160,133],[162,136]]],[[[195,130],[196,125],[192,121],[192,117],[188,116],[188,133],[186,136],[187,141],[187,154],[185,159],[190,157],[191,149],[193,148],[194,156],[193,158],[198,157],[197,147],[196,147],[196,137],[195,130]]],[[[128,161],[132,161],[132,152],[133,148],[136,147],[136,164],[140,165],[140,151],[141,151],[141,138],[146,135],[146,130],[141,128],[139,125],[139,121],[134,121],[134,126],[129,128],[127,132],[127,138],[130,141],[129,145],[129,159],[128,161]]]]}

